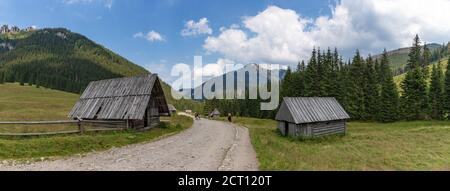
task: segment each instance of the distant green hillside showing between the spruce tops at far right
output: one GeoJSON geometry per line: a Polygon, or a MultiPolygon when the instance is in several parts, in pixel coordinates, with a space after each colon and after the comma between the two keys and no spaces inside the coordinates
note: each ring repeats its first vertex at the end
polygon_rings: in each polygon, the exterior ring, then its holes
{"type": "MultiPolygon", "coordinates": [[[[442,48],[443,45],[437,43],[427,44],[431,52],[437,51],[442,48]]],[[[395,74],[403,74],[406,63],[408,62],[408,54],[411,47],[399,48],[396,50],[388,51],[388,58],[391,63],[391,68],[395,74]]],[[[382,54],[376,55],[374,59],[381,59],[382,54]]]]}

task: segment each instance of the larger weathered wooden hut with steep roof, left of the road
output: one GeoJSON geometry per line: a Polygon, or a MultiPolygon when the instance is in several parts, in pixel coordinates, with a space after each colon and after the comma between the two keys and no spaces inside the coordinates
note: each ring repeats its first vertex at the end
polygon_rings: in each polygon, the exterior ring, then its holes
{"type": "Polygon", "coordinates": [[[128,128],[151,128],[169,116],[158,75],[91,82],[75,104],[72,119],[123,121],[128,128]]]}

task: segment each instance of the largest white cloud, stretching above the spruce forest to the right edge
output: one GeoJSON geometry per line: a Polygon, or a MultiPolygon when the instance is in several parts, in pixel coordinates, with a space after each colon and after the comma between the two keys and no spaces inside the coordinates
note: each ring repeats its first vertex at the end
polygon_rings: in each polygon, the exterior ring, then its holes
{"type": "Polygon", "coordinates": [[[416,33],[427,42],[450,40],[449,8],[449,0],[342,0],[330,16],[307,18],[269,6],[244,17],[243,29],[222,28],[203,47],[237,62],[289,65],[308,59],[314,46],[375,54],[410,45],[416,33]]]}

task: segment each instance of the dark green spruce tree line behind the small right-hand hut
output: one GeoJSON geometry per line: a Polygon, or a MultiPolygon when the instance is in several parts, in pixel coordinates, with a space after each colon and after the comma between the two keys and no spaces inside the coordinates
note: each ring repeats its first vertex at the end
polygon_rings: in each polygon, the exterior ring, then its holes
{"type": "MultiPolygon", "coordinates": [[[[446,46],[447,47],[447,46],[446,46]]],[[[281,82],[281,97],[335,97],[353,120],[394,122],[450,118],[450,65],[444,73],[441,63],[447,48],[430,51],[418,35],[400,86],[394,81],[386,50],[380,58],[363,58],[357,50],[344,61],[335,48],[314,48],[311,58],[295,70],[288,68],[281,82]],[[443,51],[445,50],[445,51],[443,51]]],[[[248,92],[248,91],[246,91],[248,92]]],[[[276,111],[261,111],[262,100],[207,100],[205,112],[218,108],[223,114],[273,118],[276,111]]]]}

